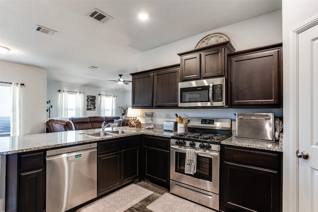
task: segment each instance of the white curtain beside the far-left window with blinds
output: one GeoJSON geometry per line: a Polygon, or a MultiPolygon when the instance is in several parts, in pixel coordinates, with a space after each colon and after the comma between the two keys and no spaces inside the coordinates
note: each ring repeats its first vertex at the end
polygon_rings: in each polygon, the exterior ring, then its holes
{"type": "Polygon", "coordinates": [[[21,84],[12,82],[11,84],[11,120],[10,120],[10,136],[20,136],[22,132],[22,90],[21,84]]]}

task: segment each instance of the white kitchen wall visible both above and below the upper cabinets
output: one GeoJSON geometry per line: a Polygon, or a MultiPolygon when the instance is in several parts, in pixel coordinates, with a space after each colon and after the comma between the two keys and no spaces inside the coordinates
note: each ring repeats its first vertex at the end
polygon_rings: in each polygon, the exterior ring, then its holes
{"type": "MultiPolygon", "coordinates": [[[[158,67],[180,63],[177,53],[194,49],[196,44],[206,35],[211,33],[224,33],[230,40],[236,51],[261,47],[282,42],[282,10],[277,10],[265,15],[241,21],[232,25],[211,30],[206,33],[195,35],[179,40],[147,52],[139,54],[138,70],[145,71],[158,67]]],[[[269,112],[282,117],[282,109],[147,109],[140,110],[140,117],[147,112],[156,113],[156,123],[175,119],[174,114],[188,117],[207,118],[231,118],[236,119],[236,112],[269,112]]],[[[141,118],[141,120],[143,120],[141,118]]],[[[143,122],[143,121],[142,121],[143,122]]],[[[235,126],[233,126],[235,127],[235,126]]]]}

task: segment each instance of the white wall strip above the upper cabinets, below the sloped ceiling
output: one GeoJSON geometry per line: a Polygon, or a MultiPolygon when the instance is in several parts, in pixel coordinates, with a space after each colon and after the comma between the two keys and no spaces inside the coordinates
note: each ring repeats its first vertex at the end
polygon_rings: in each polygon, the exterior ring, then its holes
{"type": "Polygon", "coordinates": [[[277,10],[140,53],[138,71],[179,64],[180,57],[177,53],[194,49],[202,38],[212,33],[227,35],[236,51],[280,43],[282,11],[277,10]]]}

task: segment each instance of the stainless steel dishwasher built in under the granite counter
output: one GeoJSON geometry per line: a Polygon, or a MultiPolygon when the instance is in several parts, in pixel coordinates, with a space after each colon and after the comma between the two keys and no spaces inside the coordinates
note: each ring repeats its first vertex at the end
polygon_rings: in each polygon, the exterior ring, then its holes
{"type": "Polygon", "coordinates": [[[46,152],[46,212],[65,212],[97,197],[97,144],[46,152]]]}

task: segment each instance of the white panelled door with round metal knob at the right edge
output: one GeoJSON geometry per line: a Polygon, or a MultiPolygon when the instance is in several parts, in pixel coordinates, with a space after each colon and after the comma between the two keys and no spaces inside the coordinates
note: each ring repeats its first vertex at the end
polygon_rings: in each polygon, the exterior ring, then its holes
{"type": "Polygon", "coordinates": [[[318,211],[318,25],[299,34],[299,212],[318,211]],[[302,153],[303,152],[303,153],[302,153]],[[309,158],[305,159],[306,152],[309,158]]]}

